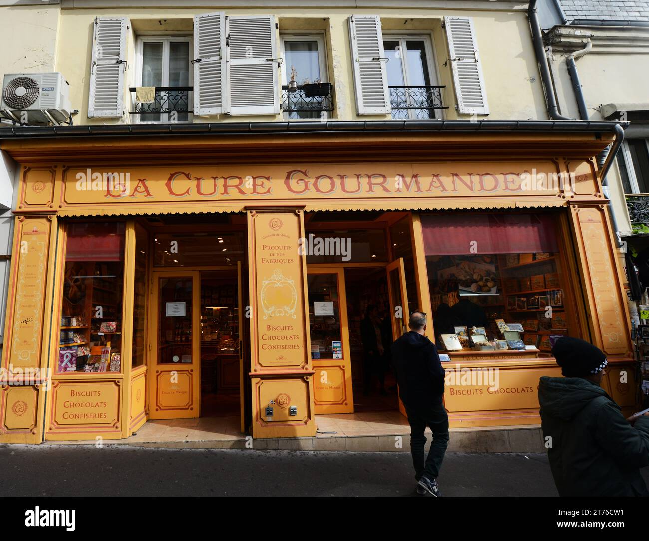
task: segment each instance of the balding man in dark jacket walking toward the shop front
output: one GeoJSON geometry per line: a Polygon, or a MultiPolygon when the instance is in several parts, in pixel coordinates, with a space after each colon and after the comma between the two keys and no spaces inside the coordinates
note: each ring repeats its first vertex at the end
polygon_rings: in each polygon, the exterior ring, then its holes
{"type": "Polygon", "coordinates": [[[413,312],[410,332],[392,346],[397,369],[399,396],[406,407],[410,423],[410,452],[415,466],[417,493],[440,496],[435,477],[448,446],[448,414],[444,408],[444,369],[437,349],[426,336],[426,314],[413,312]],[[424,431],[430,427],[433,440],[424,464],[424,431]]]}

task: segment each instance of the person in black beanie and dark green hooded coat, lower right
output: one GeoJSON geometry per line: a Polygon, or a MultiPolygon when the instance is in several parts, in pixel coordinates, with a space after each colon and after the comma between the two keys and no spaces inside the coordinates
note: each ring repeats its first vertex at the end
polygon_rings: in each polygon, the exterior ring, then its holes
{"type": "Polygon", "coordinates": [[[602,389],[606,355],[562,336],[552,355],[564,377],[539,381],[541,429],[559,496],[649,496],[649,413],[625,419],[602,389]]]}

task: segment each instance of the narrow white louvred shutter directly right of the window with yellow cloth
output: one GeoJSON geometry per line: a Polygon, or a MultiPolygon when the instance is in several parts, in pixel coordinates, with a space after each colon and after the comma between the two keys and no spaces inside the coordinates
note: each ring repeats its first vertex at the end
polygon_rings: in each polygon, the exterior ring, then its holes
{"type": "Polygon", "coordinates": [[[225,14],[194,16],[194,114],[228,112],[225,14]]]}

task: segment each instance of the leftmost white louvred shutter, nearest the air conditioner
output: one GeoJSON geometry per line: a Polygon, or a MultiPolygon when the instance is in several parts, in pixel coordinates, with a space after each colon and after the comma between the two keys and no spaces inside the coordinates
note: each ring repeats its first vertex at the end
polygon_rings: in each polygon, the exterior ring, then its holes
{"type": "Polygon", "coordinates": [[[97,17],[92,40],[88,117],[121,118],[124,114],[126,32],[129,19],[97,17]]]}

